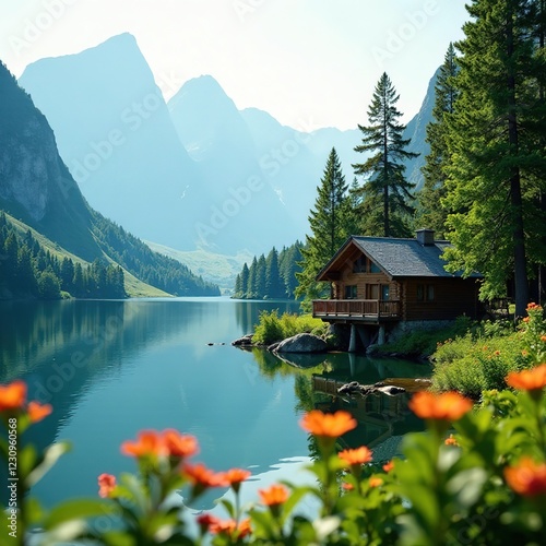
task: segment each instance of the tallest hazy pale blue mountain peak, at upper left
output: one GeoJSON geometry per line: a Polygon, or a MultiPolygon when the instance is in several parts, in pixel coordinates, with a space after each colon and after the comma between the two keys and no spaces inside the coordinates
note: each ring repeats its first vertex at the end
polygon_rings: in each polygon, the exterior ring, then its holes
{"type": "Polygon", "coordinates": [[[182,197],[199,185],[198,169],[130,34],[34,62],[20,84],[47,116],[92,206],[139,237],[193,247],[182,197]]]}

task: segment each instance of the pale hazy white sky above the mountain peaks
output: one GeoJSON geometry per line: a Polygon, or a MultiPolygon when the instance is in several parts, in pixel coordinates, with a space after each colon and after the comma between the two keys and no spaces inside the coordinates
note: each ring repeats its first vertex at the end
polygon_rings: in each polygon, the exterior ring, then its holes
{"type": "Polygon", "coordinates": [[[44,57],[130,32],[168,99],[213,75],[237,107],[300,130],[366,123],[387,72],[408,121],[464,0],[0,0],[0,59],[20,76],[44,57]]]}

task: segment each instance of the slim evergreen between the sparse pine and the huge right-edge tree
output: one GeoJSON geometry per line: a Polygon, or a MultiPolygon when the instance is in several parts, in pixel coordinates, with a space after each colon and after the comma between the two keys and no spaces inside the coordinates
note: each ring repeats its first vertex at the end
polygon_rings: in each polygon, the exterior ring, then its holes
{"type": "Polygon", "coordinates": [[[459,90],[454,78],[458,72],[456,52],[453,44],[449,45],[443,64],[438,71],[435,86],[435,106],[432,120],[427,126],[426,141],[430,153],[422,168],[425,182],[418,198],[418,223],[434,229],[440,237],[446,232],[448,211],[442,206],[446,197],[446,168],[450,162],[448,147],[448,118],[454,112],[459,90]]]}

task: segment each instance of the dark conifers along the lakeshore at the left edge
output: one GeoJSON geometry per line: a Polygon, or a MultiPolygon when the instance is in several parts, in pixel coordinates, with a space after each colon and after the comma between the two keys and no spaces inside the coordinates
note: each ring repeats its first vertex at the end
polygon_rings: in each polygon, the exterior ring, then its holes
{"type": "Polygon", "coordinates": [[[0,294],[59,299],[61,290],[78,298],[124,298],[123,270],[98,259],[91,265],[59,259],[28,230],[21,235],[0,212],[0,294]]]}

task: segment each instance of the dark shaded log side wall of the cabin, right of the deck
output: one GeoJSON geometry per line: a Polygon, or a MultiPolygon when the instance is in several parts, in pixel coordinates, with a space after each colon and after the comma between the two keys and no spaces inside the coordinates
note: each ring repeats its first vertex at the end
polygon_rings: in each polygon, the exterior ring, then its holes
{"type": "Polygon", "coordinates": [[[479,318],[478,283],[475,278],[420,277],[403,282],[403,320],[449,320],[461,314],[479,318]],[[429,286],[434,299],[426,297],[429,286]],[[423,297],[425,290],[425,297],[423,297]]]}

